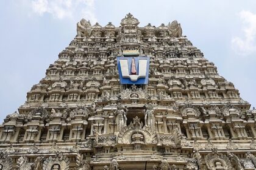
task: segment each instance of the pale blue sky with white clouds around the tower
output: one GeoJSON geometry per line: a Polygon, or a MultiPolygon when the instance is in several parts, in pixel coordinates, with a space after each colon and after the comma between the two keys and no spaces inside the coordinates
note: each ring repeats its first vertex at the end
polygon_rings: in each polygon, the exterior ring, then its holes
{"type": "Polygon", "coordinates": [[[45,77],[49,64],[76,36],[80,19],[119,26],[129,12],[140,27],[176,19],[219,75],[256,106],[255,0],[0,0],[0,9],[0,122],[45,77]]]}

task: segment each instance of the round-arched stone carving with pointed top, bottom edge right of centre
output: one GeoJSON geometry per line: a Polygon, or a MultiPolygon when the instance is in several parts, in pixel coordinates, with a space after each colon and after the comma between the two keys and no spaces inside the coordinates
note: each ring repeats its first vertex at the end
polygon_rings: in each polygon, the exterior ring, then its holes
{"type": "Polygon", "coordinates": [[[217,152],[216,148],[213,148],[212,152],[206,155],[205,163],[207,165],[207,168],[210,170],[232,169],[229,158],[226,155],[217,152]]]}

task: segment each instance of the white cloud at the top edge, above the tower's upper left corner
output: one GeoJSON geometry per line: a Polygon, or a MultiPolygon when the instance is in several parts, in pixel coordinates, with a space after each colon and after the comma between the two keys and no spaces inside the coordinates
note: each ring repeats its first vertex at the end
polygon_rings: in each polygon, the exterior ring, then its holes
{"type": "Polygon", "coordinates": [[[80,12],[84,18],[96,22],[94,0],[33,0],[31,7],[34,13],[43,16],[46,13],[54,18],[73,18],[80,12]]]}

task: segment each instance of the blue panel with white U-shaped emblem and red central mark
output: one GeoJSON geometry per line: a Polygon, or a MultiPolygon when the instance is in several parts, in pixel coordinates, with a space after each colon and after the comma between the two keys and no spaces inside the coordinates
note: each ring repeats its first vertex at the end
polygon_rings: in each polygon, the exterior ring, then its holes
{"type": "Polygon", "coordinates": [[[148,84],[149,56],[118,56],[121,84],[148,84]]]}

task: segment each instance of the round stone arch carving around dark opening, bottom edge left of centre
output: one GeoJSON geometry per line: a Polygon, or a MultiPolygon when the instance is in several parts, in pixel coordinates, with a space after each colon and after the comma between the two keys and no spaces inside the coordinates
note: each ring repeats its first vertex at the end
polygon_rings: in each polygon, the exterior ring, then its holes
{"type": "Polygon", "coordinates": [[[43,162],[43,170],[51,170],[59,168],[63,170],[69,169],[69,159],[62,152],[56,152],[55,156],[46,158],[43,162]]]}

